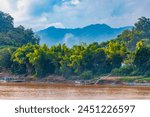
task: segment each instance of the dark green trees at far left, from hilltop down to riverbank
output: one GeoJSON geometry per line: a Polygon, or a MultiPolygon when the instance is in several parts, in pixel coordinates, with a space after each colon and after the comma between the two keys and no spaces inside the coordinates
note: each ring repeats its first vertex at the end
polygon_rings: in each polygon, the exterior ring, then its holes
{"type": "Polygon", "coordinates": [[[0,71],[13,71],[16,73],[25,73],[25,66],[14,63],[11,56],[20,46],[28,43],[38,44],[39,38],[36,37],[31,29],[25,29],[23,26],[14,27],[13,18],[0,11],[0,71]]]}

